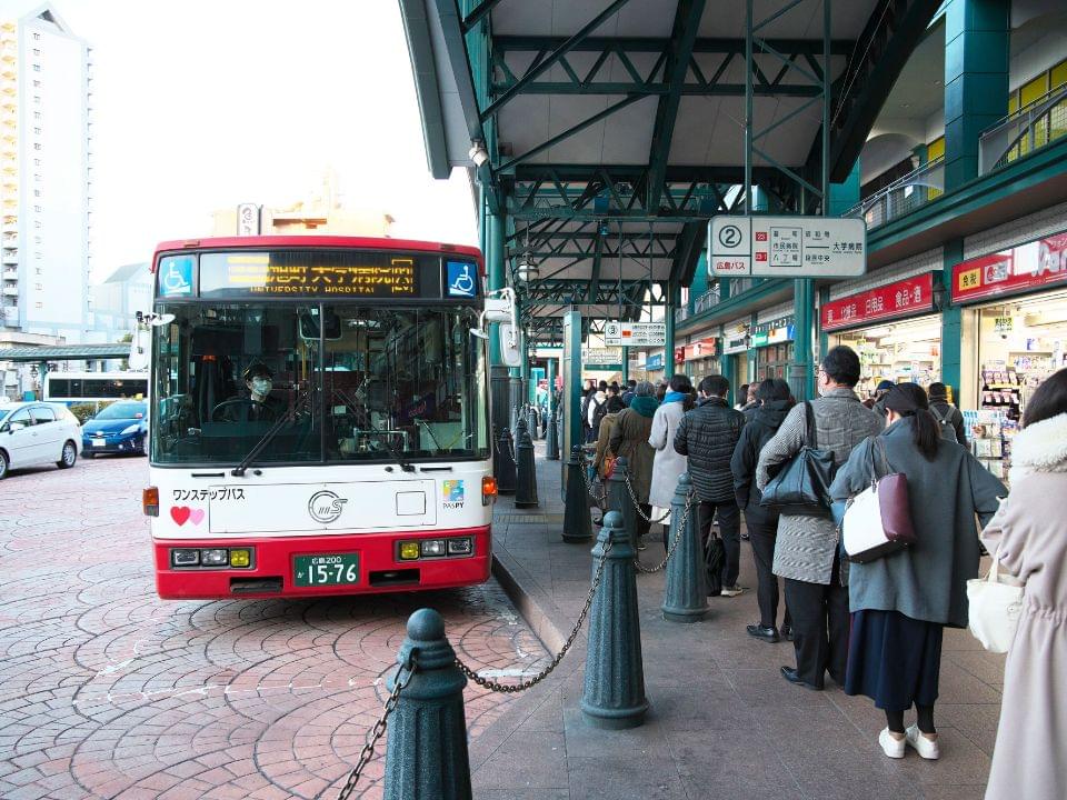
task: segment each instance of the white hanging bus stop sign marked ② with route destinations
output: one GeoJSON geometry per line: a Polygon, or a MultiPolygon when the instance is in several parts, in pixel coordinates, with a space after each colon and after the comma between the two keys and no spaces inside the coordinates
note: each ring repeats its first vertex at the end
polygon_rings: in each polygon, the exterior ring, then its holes
{"type": "Polygon", "coordinates": [[[715,217],[708,268],[721,278],[855,278],[867,271],[867,223],[837,217],[715,217]]]}

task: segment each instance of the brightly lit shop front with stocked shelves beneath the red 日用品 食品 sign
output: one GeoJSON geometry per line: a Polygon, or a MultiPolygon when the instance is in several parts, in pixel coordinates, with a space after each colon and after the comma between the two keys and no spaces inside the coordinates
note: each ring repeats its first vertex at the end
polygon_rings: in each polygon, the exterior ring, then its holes
{"type": "Polygon", "coordinates": [[[886,322],[829,337],[830,347],[847,344],[861,366],[856,393],[874,396],[879,381],[914,381],[923,388],[941,379],[941,318],[928,314],[904,322],[886,322]]]}

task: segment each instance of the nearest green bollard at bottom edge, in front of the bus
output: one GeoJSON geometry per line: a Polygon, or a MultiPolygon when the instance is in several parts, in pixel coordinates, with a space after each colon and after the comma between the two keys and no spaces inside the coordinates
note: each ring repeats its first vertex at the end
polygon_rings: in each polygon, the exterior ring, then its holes
{"type": "MultiPolygon", "coordinates": [[[[408,618],[398,663],[415,658],[415,673],[389,718],[385,800],[470,800],[470,759],[463,687],[445,620],[432,609],[408,618]]],[[[392,691],[396,679],[387,682],[392,691]]]]}

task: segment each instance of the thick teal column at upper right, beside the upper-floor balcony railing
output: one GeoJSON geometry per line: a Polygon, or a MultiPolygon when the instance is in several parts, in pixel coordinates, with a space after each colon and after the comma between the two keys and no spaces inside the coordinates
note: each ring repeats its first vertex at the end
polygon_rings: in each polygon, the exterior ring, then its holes
{"type": "Polygon", "coordinates": [[[945,10],[945,190],[978,177],[978,136],[1007,113],[1010,0],[945,10]]]}

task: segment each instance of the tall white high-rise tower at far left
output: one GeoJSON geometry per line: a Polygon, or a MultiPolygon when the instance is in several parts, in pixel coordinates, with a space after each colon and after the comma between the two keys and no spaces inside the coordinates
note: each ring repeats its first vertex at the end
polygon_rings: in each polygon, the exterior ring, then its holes
{"type": "Polygon", "coordinates": [[[0,338],[84,338],[92,51],[49,6],[0,17],[0,338]]]}

